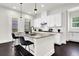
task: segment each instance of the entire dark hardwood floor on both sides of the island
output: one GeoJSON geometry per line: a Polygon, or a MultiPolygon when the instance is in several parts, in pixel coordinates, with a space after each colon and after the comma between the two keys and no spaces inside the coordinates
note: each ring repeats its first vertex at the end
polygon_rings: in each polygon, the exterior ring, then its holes
{"type": "MultiPolygon", "coordinates": [[[[13,56],[13,42],[0,44],[0,56],[13,56]]],[[[22,46],[15,46],[15,56],[33,56],[22,46]]],[[[79,56],[79,42],[67,42],[67,44],[56,45],[55,53],[52,56],[79,56]]]]}

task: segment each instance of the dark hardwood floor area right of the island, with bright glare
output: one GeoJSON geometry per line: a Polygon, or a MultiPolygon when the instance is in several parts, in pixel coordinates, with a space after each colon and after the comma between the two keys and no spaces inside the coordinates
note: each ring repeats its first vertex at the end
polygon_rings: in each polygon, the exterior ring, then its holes
{"type": "Polygon", "coordinates": [[[79,56],[79,43],[69,41],[64,45],[55,45],[52,56],[79,56]]]}

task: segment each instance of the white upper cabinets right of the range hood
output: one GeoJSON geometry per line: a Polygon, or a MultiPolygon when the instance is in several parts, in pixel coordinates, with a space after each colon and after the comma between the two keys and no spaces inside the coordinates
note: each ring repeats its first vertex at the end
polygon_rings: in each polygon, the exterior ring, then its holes
{"type": "Polygon", "coordinates": [[[61,26],[61,13],[49,15],[47,21],[49,27],[61,26]]]}

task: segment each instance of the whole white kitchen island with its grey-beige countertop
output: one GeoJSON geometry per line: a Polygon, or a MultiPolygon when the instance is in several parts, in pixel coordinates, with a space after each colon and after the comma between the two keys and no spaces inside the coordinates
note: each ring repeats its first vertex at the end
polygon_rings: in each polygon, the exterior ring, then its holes
{"type": "MultiPolygon", "coordinates": [[[[35,56],[50,56],[54,51],[54,35],[56,33],[51,32],[35,32],[35,34],[25,34],[23,35],[25,39],[29,39],[34,42],[30,46],[30,52],[35,56]]],[[[28,50],[28,49],[27,49],[28,50]]]]}

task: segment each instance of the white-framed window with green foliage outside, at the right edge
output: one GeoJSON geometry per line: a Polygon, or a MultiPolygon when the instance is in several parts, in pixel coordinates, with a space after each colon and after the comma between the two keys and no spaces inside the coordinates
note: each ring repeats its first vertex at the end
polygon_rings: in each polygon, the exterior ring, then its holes
{"type": "Polygon", "coordinates": [[[68,31],[79,32],[79,9],[68,10],[68,31]]]}

